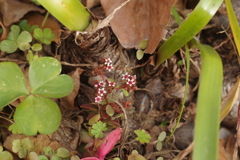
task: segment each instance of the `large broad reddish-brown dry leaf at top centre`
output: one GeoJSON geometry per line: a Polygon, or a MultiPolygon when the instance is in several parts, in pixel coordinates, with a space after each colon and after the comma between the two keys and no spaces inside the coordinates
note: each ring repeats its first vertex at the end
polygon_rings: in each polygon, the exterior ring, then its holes
{"type": "MultiPolygon", "coordinates": [[[[108,16],[126,0],[101,0],[108,16]]],[[[148,40],[146,53],[153,53],[165,36],[170,9],[175,0],[131,0],[110,21],[113,32],[124,48],[138,48],[142,40],[148,40]]]]}

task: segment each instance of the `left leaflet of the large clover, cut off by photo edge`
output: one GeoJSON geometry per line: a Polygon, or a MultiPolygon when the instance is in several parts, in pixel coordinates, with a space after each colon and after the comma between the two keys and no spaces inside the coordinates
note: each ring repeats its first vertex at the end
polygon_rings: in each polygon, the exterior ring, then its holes
{"type": "Polygon", "coordinates": [[[0,63],[0,110],[15,99],[28,95],[25,77],[13,62],[0,63]]]}

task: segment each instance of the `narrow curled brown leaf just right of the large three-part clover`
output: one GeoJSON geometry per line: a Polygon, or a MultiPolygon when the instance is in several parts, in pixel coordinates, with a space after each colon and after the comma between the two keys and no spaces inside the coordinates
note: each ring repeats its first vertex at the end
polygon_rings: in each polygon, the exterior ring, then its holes
{"type": "Polygon", "coordinates": [[[67,110],[76,109],[76,107],[74,106],[74,99],[80,89],[80,75],[83,71],[83,69],[77,68],[75,71],[70,73],[70,76],[72,77],[74,82],[74,89],[68,96],[61,99],[61,106],[63,106],[67,110]]]}

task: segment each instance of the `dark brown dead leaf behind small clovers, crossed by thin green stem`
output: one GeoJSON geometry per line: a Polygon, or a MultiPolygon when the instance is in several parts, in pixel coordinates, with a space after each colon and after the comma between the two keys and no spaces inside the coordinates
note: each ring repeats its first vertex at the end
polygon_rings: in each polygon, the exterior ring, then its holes
{"type": "MultiPolygon", "coordinates": [[[[38,12],[30,12],[26,14],[22,19],[26,19],[28,21],[27,23],[30,25],[38,25],[39,27],[41,27],[44,18],[45,17],[38,12]]],[[[61,30],[59,23],[51,17],[48,17],[43,28],[50,28],[55,35],[52,41],[58,43],[61,36],[61,32],[59,32],[59,30],[61,30]]]]}

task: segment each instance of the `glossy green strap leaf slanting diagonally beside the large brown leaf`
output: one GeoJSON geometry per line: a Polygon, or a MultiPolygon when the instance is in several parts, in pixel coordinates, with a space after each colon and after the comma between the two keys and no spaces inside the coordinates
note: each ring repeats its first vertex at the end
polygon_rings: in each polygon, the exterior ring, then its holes
{"type": "Polygon", "coordinates": [[[179,29],[159,48],[156,66],[171,57],[210,21],[223,0],[201,0],[179,29]]]}

